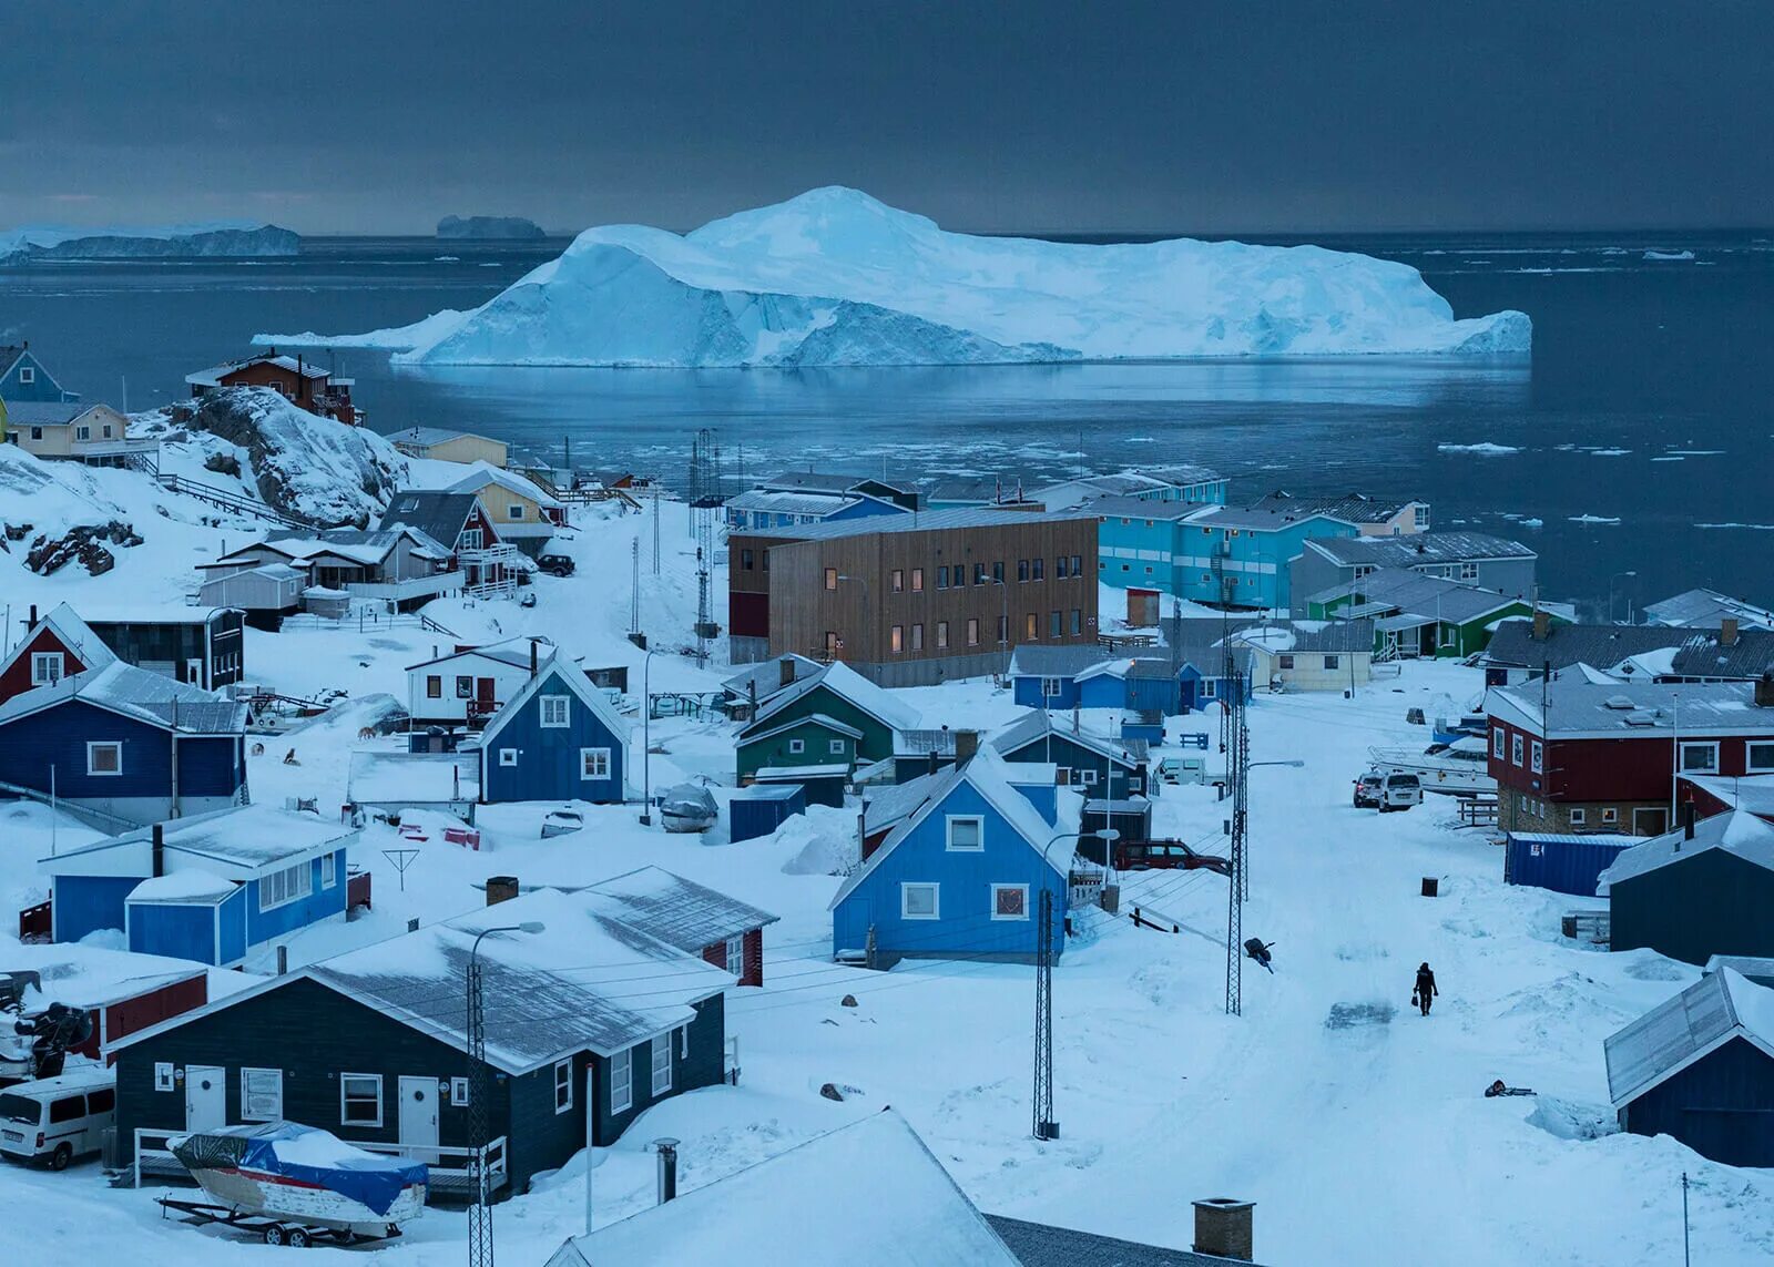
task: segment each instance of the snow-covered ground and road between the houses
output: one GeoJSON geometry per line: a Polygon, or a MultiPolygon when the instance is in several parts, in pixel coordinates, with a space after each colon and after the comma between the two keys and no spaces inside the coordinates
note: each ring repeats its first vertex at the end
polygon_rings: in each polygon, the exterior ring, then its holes
{"type": "MultiPolygon", "coordinates": [[[[144,493],[124,484],[128,476],[87,477],[96,493],[135,506],[144,493]]],[[[578,573],[539,577],[534,609],[454,600],[428,614],[454,641],[546,634],[587,665],[626,664],[639,694],[642,655],[626,641],[639,541],[640,625],[663,648],[651,687],[711,689],[724,667],[701,669],[679,653],[695,614],[685,509],[665,506],[658,577],[648,515],[580,520],[566,543],[578,573]]],[[[186,518],[149,527],[158,531],[121,550],[108,577],[37,578],[0,563],[14,616],[23,602],[115,607],[130,594],[158,594],[224,531],[186,518]]],[[[713,586],[718,596],[720,571],[713,586]]],[[[401,696],[403,665],[438,641],[449,639],[413,625],[250,634],[252,678],[294,696],[342,689],[353,701],[268,740],[264,756],[252,758],[254,799],[337,804],[358,728],[378,706],[371,696],[401,696]],[[300,765],[282,763],[287,749],[300,765]]],[[[1581,903],[1504,887],[1499,850],[1456,829],[1448,802],[1387,816],[1350,807],[1366,745],[1423,742],[1405,710],[1433,712],[1440,696],[1465,699],[1478,687],[1476,671],[1410,664],[1352,701],[1256,699],[1252,759],[1304,761],[1251,774],[1244,935],[1274,942],[1276,972],[1245,962],[1244,1015],[1228,1017],[1226,882],[1206,871],[1128,877],[1123,910],[1137,903],[1181,932],[1100,912],[1080,917],[1056,972],[1063,1134],[1052,1143],[1029,1130],[1031,969],[917,962],[869,974],[830,964],[827,905],[839,884],[830,870],[852,850],[853,811],[816,809],[773,838],[729,845],[724,827],[701,839],[642,829],[633,807],[585,807],[584,832],[543,841],[548,806],[490,807],[479,854],[431,832],[404,877],[385,850],[406,843],[374,825],[357,850],[374,875],[374,912],[302,933],[291,956],[312,962],[396,935],[413,916],[459,914],[483,901],[475,885],[498,873],[582,882],[653,862],[781,914],[766,933],[766,985],[729,1003],[742,1084],[671,1100],[598,1150],[600,1223],[653,1200],[646,1146],[655,1137],[683,1141],[681,1184],[694,1187],[891,1104],[981,1208],[1134,1240],[1187,1246],[1192,1198],[1238,1196],[1256,1201],[1258,1258],[1268,1263],[1676,1262],[1685,1171],[1694,1262],[1767,1262],[1774,1176],[1715,1166],[1669,1139],[1613,1134],[1602,1040],[1692,981],[1694,969],[1561,940],[1559,912],[1581,903]],[[1439,878],[1440,896],[1419,896],[1423,877],[1439,878]],[[1442,988],[1430,1019],[1407,1006],[1421,960],[1442,988]],[[844,994],[859,1006],[839,1006],[844,994]],[[1499,1077],[1538,1097],[1483,1098],[1499,1077]],[[846,1100],[821,1098],[825,1082],[852,1088],[846,1100]]],[[[1015,713],[983,680],[903,694],[928,724],[995,724],[1015,713]]],[[[1217,735],[1217,715],[1173,726],[1217,735]]],[[[697,774],[731,781],[731,728],[672,719],[653,722],[651,736],[655,788],[697,774]]],[[[1210,788],[1166,788],[1157,804],[1162,832],[1208,852],[1224,848],[1222,818],[1210,788]]],[[[59,845],[92,836],[67,822],[55,834],[59,845]]],[[[9,905],[41,893],[34,859],[48,852],[48,811],[0,806],[0,898],[9,905]]],[[[11,958],[9,944],[0,937],[0,962],[11,958]]],[[[9,1208],[28,1212],[0,1219],[0,1262],[115,1260],[126,1247],[131,1263],[208,1267],[264,1253],[229,1233],[163,1221],[151,1191],[112,1191],[96,1164],[64,1175],[7,1166],[0,1175],[9,1208]]],[[[781,1216],[782,1262],[795,1262],[793,1210],[781,1216]]],[[[500,1258],[539,1263],[582,1219],[584,1157],[497,1208],[500,1258]]],[[[429,1210],[390,1246],[309,1253],[389,1267],[456,1263],[465,1230],[461,1212],[429,1210]]]]}

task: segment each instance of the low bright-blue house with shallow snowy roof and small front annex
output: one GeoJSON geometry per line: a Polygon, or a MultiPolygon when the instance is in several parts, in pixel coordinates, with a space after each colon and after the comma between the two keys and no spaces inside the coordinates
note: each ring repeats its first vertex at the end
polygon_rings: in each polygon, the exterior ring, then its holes
{"type": "Polygon", "coordinates": [[[346,914],[357,832],[314,814],[241,806],[140,827],[39,859],[51,932],[114,928],[130,949],[229,967],[346,914]]]}

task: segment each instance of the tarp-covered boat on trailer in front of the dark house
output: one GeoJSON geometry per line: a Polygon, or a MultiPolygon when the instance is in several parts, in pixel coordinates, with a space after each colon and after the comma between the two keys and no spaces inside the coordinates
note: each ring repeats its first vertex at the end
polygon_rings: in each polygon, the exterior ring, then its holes
{"type": "Polygon", "coordinates": [[[364,1152],[318,1127],[218,1127],[176,1136],[167,1146],[215,1198],[213,1205],[176,1201],[174,1208],[202,1223],[261,1232],[271,1244],[305,1242],[310,1233],[397,1237],[426,1207],[424,1162],[364,1152]]]}

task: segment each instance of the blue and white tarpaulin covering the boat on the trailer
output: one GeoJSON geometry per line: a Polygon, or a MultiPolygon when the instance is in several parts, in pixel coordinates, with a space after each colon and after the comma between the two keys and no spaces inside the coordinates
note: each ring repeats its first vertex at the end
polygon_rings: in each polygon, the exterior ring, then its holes
{"type": "Polygon", "coordinates": [[[294,1121],[263,1127],[222,1127],[170,1141],[172,1155],[186,1169],[255,1169],[266,1175],[314,1184],[376,1214],[387,1214],[403,1189],[426,1184],[422,1162],[353,1148],[334,1134],[294,1121]]]}

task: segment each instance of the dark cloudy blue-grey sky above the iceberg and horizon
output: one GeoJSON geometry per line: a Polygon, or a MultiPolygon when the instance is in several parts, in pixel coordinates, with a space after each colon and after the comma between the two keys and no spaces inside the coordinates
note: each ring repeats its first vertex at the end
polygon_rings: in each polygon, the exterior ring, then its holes
{"type": "Polygon", "coordinates": [[[1774,222],[1774,4],[7,0],[0,227],[1774,222]]]}

